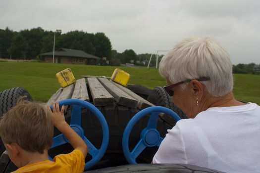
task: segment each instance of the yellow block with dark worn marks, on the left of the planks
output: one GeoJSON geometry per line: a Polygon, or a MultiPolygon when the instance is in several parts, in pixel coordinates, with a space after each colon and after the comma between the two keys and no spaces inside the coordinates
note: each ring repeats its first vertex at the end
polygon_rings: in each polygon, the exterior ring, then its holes
{"type": "Polygon", "coordinates": [[[76,81],[72,71],[69,68],[56,73],[56,78],[60,87],[67,87],[76,81]]]}

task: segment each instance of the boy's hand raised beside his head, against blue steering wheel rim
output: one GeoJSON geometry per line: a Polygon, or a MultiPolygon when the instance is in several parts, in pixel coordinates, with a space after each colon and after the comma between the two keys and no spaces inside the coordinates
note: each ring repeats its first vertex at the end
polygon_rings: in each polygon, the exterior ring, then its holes
{"type": "MultiPolygon", "coordinates": [[[[48,108],[51,110],[50,106],[48,108]]],[[[61,106],[61,110],[59,111],[59,102],[52,102],[52,122],[53,125],[58,128],[58,126],[61,126],[65,122],[64,117],[64,105],[61,106]]]]}

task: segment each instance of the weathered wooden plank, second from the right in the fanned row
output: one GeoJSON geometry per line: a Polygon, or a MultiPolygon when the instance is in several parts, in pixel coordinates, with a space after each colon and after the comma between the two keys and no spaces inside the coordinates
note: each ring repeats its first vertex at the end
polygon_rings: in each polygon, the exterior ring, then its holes
{"type": "Polygon", "coordinates": [[[106,90],[114,97],[115,101],[122,106],[136,108],[137,100],[128,95],[105,78],[99,78],[106,90]]]}

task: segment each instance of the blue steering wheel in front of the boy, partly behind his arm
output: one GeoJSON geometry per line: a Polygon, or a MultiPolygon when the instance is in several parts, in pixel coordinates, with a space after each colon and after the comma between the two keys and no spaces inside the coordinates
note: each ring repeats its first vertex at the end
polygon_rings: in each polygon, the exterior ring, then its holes
{"type": "MultiPolygon", "coordinates": [[[[109,141],[109,130],[107,123],[105,121],[104,115],[100,112],[98,108],[96,108],[93,104],[80,100],[80,99],[66,99],[59,101],[59,107],[62,105],[72,105],[72,112],[71,112],[71,120],[70,120],[70,127],[78,133],[78,135],[84,140],[84,142],[88,146],[88,154],[92,156],[92,159],[85,163],[85,170],[94,166],[100,159],[103,157],[108,141],[109,141]],[[92,113],[94,113],[97,118],[99,119],[102,130],[103,130],[103,141],[100,149],[97,149],[88,139],[84,136],[84,130],[81,127],[81,108],[85,107],[89,109],[92,113]]],[[[52,109],[52,106],[51,106],[52,109]]],[[[52,139],[52,147],[57,147],[62,144],[69,143],[68,139],[61,133],[52,139]]],[[[52,158],[49,156],[52,160],[52,158]]]]}

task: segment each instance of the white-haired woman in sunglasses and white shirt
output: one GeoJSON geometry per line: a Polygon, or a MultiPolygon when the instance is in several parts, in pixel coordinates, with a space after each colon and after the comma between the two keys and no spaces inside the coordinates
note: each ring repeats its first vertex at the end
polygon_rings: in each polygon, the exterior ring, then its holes
{"type": "Polygon", "coordinates": [[[153,163],[260,172],[260,106],[234,98],[232,64],[220,43],[184,39],[162,58],[159,73],[189,119],[168,130],[153,163]]]}

